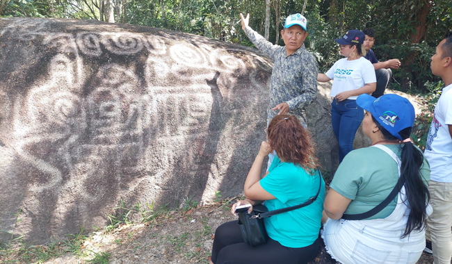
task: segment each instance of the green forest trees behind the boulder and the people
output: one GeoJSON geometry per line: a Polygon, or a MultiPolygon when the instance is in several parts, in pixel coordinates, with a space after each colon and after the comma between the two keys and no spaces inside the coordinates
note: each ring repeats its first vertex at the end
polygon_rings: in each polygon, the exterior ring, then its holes
{"type": "Polygon", "coordinates": [[[419,147],[425,145],[431,113],[444,87],[431,74],[430,58],[452,30],[450,0],[1,0],[0,6],[0,17],[95,19],[252,46],[241,30],[240,13],[250,13],[250,26],[280,45],[284,19],[293,13],[305,15],[305,45],[316,56],[320,72],[340,58],[334,38],[348,29],[373,28],[377,58],[401,60],[389,88],[420,95],[426,103],[412,135],[419,147]]]}

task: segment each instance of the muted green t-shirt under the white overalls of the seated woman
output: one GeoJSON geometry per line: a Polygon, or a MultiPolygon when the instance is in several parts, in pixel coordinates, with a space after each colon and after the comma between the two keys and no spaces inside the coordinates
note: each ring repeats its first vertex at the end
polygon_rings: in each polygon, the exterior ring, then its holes
{"type": "MultiPolygon", "coordinates": [[[[401,146],[385,145],[401,158],[401,146]]],[[[428,185],[430,181],[430,165],[423,158],[421,167],[423,181],[428,185]]],[[[348,199],[347,214],[365,213],[382,201],[391,193],[398,181],[398,166],[394,158],[377,147],[355,149],[345,156],[337,168],[330,188],[348,199]]],[[[396,208],[397,197],[382,211],[368,219],[382,219],[391,215],[396,208]]]]}

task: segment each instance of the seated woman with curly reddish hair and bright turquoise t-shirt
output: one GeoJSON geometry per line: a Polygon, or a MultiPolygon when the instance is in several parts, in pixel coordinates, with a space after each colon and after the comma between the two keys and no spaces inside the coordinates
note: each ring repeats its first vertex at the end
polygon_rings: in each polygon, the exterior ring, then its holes
{"type": "Polygon", "coordinates": [[[232,213],[236,206],[255,206],[262,201],[268,211],[296,206],[316,195],[319,181],[321,190],[309,206],[264,218],[268,235],[264,245],[245,244],[237,221],[219,226],[213,240],[212,263],[307,263],[317,254],[325,183],[316,170],[311,137],[293,115],[274,117],[267,133],[268,142],[261,143],[245,181],[246,199],[237,201],[232,213]],[[277,156],[261,179],[262,163],[273,149],[277,156]]]}

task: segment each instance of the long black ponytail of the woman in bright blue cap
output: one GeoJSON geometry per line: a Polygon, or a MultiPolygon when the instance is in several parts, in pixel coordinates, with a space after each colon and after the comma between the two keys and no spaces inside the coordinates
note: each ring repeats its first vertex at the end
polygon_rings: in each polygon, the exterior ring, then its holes
{"type": "MultiPolygon", "coordinates": [[[[377,120],[372,117],[373,122],[380,129],[385,140],[400,140],[389,133],[377,120]]],[[[410,138],[412,127],[407,127],[398,132],[401,138],[410,138]]],[[[423,154],[421,150],[412,145],[412,142],[405,142],[401,154],[401,175],[398,178],[397,186],[401,188],[405,185],[408,208],[407,226],[403,232],[402,238],[409,236],[411,231],[423,230],[424,222],[427,218],[427,204],[430,201],[430,192],[423,182],[421,167],[423,164],[423,154]]],[[[404,201],[405,202],[405,201],[404,201]]]]}

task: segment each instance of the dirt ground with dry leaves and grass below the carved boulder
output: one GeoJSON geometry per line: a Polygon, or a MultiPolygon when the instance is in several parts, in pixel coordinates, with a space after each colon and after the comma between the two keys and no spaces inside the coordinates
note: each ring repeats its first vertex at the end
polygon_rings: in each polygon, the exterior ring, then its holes
{"type": "MultiPolygon", "coordinates": [[[[230,213],[237,198],[207,206],[191,204],[179,210],[164,209],[154,212],[152,220],[120,222],[90,236],[72,236],[54,247],[17,245],[0,252],[0,263],[209,263],[216,228],[237,219],[230,213]]],[[[322,248],[316,260],[309,264],[314,263],[334,264],[335,261],[322,248]]],[[[425,253],[417,262],[428,263],[433,263],[433,257],[425,253]]]]}

